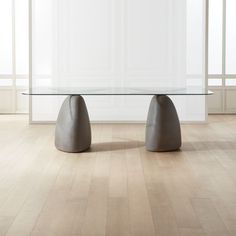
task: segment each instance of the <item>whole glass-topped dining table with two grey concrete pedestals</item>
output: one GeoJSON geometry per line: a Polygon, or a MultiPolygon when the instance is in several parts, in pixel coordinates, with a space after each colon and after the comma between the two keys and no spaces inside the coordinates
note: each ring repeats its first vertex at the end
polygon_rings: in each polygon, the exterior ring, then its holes
{"type": "Polygon", "coordinates": [[[178,114],[169,96],[211,94],[211,91],[202,87],[33,87],[23,92],[23,95],[30,96],[67,96],[56,122],[55,146],[58,150],[72,153],[86,151],[91,146],[91,126],[83,96],[152,95],[146,122],[145,145],[148,151],[163,152],[178,150],[182,144],[178,114]]]}

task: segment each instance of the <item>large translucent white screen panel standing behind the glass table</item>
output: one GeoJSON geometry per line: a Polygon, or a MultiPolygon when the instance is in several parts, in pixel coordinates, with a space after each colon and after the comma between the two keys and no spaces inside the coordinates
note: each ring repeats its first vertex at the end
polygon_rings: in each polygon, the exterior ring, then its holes
{"type": "MultiPolygon", "coordinates": [[[[32,0],[32,86],[205,86],[205,0],[32,0]]],[[[175,96],[182,121],[204,96],[175,96]]],[[[34,96],[54,121],[64,97],[34,96]]],[[[149,96],[87,96],[92,121],[145,121],[149,96]]]]}

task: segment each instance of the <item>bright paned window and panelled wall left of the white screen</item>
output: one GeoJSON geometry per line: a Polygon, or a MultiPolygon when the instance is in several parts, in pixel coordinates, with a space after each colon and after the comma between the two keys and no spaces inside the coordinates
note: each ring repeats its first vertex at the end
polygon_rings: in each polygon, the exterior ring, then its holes
{"type": "Polygon", "coordinates": [[[0,0],[0,113],[28,112],[28,15],[28,0],[0,0]]]}

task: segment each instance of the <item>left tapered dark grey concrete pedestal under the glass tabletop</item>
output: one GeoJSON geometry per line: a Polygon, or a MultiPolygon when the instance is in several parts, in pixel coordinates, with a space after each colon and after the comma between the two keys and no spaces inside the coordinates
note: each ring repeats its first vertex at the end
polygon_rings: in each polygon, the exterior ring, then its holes
{"type": "Polygon", "coordinates": [[[91,145],[91,127],[85,101],[80,95],[66,98],[59,112],[55,146],[64,152],[82,152],[91,145]]]}

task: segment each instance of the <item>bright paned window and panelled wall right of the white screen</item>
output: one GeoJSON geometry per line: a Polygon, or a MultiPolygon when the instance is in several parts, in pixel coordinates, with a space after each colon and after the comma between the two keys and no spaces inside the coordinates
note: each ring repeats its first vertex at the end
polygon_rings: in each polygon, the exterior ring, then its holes
{"type": "Polygon", "coordinates": [[[210,113],[236,113],[236,1],[209,0],[208,85],[210,113]],[[234,105],[232,105],[234,104],[234,105]]]}

